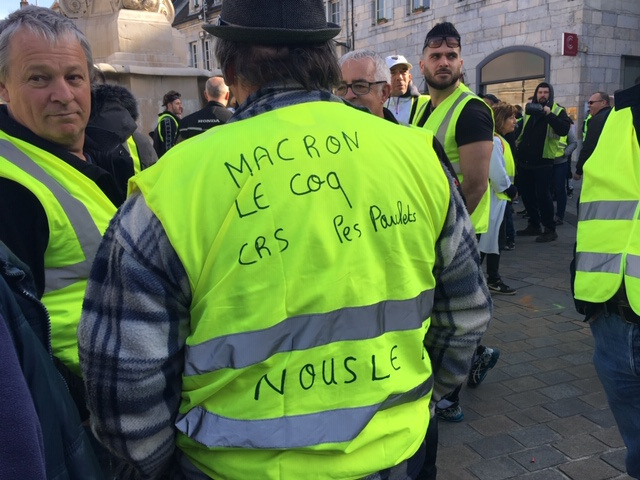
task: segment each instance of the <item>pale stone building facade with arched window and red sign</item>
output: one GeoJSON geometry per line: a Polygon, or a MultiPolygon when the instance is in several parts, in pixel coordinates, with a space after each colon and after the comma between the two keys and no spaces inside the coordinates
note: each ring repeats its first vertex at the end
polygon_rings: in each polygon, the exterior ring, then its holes
{"type": "MultiPolygon", "coordinates": [[[[204,61],[205,42],[207,47],[212,42],[208,36],[201,38],[201,25],[217,20],[222,1],[174,0],[174,26],[185,32],[192,59],[204,61]]],[[[524,105],[537,83],[548,81],[556,101],[578,122],[593,92],[613,94],[640,76],[638,0],[325,0],[325,4],[327,19],[342,27],[336,38],[339,54],[360,48],[383,56],[403,54],[414,65],[414,83],[421,90],[425,86],[418,61],[424,37],[442,21],[452,22],[461,34],[464,79],[472,90],[524,105]]],[[[210,58],[215,68],[211,54],[210,58]]]]}

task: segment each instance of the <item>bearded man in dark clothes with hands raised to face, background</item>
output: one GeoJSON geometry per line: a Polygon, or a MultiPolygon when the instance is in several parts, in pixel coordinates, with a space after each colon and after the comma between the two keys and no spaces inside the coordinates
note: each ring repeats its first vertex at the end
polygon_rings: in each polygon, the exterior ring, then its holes
{"type": "Polygon", "coordinates": [[[560,139],[569,133],[571,119],[564,107],[553,100],[553,87],[541,82],[525,108],[522,130],[517,139],[518,189],[529,215],[528,225],[516,235],[535,236],[536,242],[558,238],[551,185],[553,161],[562,156],[560,139]],[[544,232],[540,223],[544,226],[544,232]]]}

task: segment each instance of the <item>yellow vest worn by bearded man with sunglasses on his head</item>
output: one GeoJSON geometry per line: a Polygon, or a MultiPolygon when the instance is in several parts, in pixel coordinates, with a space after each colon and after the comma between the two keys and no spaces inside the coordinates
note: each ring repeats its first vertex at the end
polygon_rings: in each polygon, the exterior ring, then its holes
{"type": "MultiPolygon", "coordinates": [[[[469,88],[460,83],[455,92],[449,95],[440,105],[438,105],[426,123],[424,128],[431,130],[435,137],[444,146],[444,150],[451,161],[453,169],[458,174],[458,180],[460,183],[464,181],[463,175],[460,172],[460,155],[458,154],[458,144],[456,143],[456,124],[458,123],[458,117],[462,112],[463,107],[472,99],[478,98],[469,88]]],[[[412,125],[418,125],[421,118],[424,116],[427,108],[427,103],[424,103],[416,115],[413,117],[412,125]]],[[[489,109],[491,110],[491,109],[489,109]]],[[[491,113],[493,118],[493,111],[491,113]]],[[[471,223],[476,233],[485,233],[489,229],[489,207],[491,202],[491,195],[489,192],[489,180],[487,179],[487,189],[480,199],[480,203],[471,214],[471,223]]]]}

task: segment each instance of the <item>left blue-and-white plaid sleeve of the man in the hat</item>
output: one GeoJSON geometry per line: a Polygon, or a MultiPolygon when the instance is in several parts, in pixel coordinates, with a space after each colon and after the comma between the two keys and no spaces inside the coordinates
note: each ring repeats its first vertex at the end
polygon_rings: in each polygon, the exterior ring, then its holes
{"type": "Polygon", "coordinates": [[[131,197],[96,255],[78,343],[92,429],[137,478],[173,467],[190,303],[160,221],[131,197]]]}

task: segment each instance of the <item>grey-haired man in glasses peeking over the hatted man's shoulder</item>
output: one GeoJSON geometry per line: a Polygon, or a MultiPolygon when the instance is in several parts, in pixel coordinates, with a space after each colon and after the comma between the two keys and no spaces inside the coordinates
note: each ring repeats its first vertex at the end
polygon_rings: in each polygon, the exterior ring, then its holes
{"type": "Polygon", "coordinates": [[[385,61],[370,50],[354,50],[339,60],[342,83],[335,89],[336,95],[366,107],[374,115],[398,123],[384,107],[389,98],[391,74],[385,61]]]}

